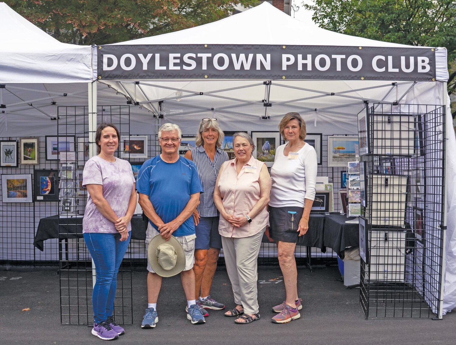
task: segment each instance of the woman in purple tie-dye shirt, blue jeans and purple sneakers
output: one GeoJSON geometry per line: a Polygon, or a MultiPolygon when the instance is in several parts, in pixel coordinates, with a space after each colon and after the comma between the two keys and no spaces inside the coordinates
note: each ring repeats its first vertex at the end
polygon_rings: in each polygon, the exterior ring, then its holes
{"type": "Polygon", "coordinates": [[[101,124],[95,142],[98,156],[88,160],[83,172],[83,186],[89,194],[83,236],[97,271],[92,334],[112,340],[125,333],[112,313],[117,272],[130,242],[130,220],[136,207],[135,178],[130,163],[114,157],[119,131],[113,124],[101,124]]]}

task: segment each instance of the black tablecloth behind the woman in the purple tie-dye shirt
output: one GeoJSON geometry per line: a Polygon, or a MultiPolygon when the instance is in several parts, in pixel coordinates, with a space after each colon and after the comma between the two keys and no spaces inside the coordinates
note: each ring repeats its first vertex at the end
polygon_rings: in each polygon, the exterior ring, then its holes
{"type": "MultiPolygon", "coordinates": [[[[131,238],[133,240],[145,240],[145,230],[147,228],[147,220],[143,220],[140,215],[134,215],[131,218],[131,238]]],[[[58,215],[41,218],[36,229],[35,240],[33,246],[43,251],[43,241],[50,238],[58,238],[64,240],[67,238],[83,237],[83,217],[75,218],[60,218],[58,215]],[[60,221],[60,235],[59,235],[60,221]]]]}

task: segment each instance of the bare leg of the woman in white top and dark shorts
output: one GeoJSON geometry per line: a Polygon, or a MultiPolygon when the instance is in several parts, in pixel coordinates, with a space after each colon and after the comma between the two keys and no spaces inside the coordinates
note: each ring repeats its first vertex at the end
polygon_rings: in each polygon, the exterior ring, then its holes
{"type": "Polygon", "coordinates": [[[295,301],[298,299],[297,277],[295,260],[296,243],[277,243],[280,269],[284,276],[286,300],[285,303],[295,308],[295,301]]]}

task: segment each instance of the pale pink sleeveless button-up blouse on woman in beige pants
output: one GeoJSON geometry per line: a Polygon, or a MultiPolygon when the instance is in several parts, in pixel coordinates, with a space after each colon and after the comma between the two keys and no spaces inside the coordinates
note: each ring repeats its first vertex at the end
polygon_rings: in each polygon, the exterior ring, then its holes
{"type": "MultiPolygon", "coordinates": [[[[223,207],[229,214],[242,217],[248,214],[260,199],[259,174],[264,162],[253,156],[245,163],[239,175],[236,172],[236,158],[223,163],[223,171],[218,179],[218,188],[222,196],[223,207]],[[250,172],[252,171],[252,172],[250,172]]],[[[263,230],[269,220],[266,208],[240,228],[231,226],[220,215],[218,232],[225,237],[248,237],[263,230]]]]}

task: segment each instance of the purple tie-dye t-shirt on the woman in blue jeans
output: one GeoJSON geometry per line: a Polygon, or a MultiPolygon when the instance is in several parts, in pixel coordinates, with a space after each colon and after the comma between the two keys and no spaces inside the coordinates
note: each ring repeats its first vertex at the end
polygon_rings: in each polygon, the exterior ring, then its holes
{"type": "MultiPolygon", "coordinates": [[[[127,213],[133,183],[135,183],[135,178],[131,165],[123,159],[115,157],[115,162],[108,162],[94,156],[84,166],[83,186],[86,184],[103,185],[103,197],[119,217],[127,213]]],[[[128,230],[131,230],[130,224],[128,230]]],[[[83,219],[84,232],[117,233],[114,223],[98,211],[90,195],[83,219]]]]}

